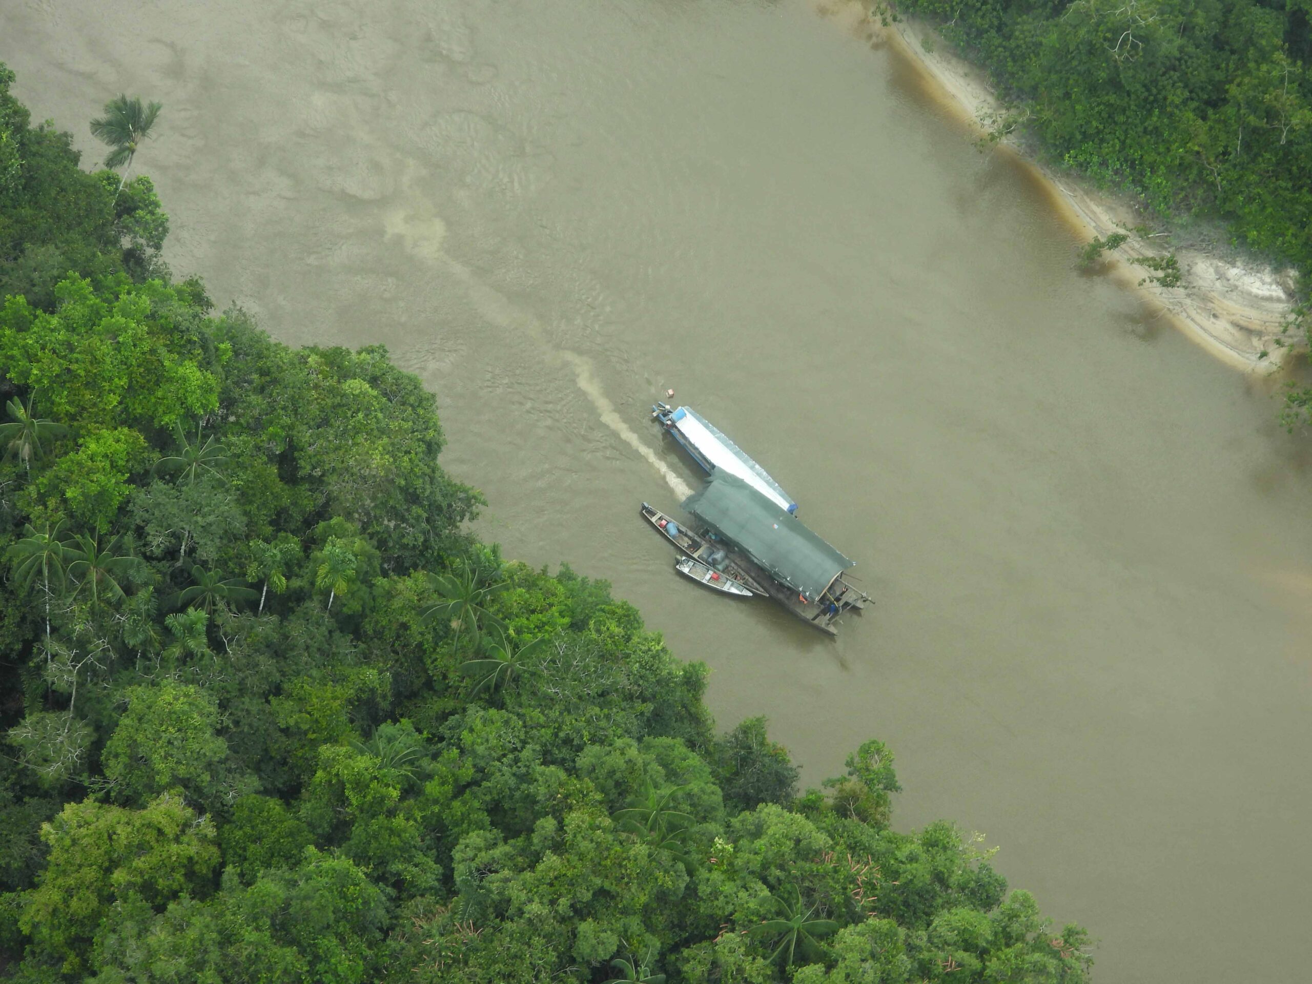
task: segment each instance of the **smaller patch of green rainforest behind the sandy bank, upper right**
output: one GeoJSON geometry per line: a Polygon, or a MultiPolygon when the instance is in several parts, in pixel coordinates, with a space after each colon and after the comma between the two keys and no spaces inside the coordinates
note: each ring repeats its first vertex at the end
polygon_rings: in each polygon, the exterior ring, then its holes
{"type": "Polygon", "coordinates": [[[896,0],[1067,164],[1312,273],[1312,0],[896,0]]]}

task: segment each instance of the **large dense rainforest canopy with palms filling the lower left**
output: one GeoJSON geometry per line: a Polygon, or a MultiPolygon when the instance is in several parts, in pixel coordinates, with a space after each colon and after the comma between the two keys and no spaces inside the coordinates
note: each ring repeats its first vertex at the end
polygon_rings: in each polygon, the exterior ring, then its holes
{"type": "MultiPolygon", "coordinates": [[[[0,975],[1077,981],[892,754],[799,794],[602,581],[501,559],[380,348],[174,282],[0,66],[0,975]]],[[[117,194],[115,194],[117,193],[117,194]]]]}

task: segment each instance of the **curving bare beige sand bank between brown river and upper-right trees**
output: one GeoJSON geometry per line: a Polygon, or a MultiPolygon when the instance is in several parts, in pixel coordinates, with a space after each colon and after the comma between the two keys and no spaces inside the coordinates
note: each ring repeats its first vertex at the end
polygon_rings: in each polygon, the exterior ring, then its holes
{"type": "Polygon", "coordinates": [[[1296,321],[1295,268],[1277,268],[1232,248],[1157,245],[1172,240],[1160,218],[1148,215],[1127,193],[1098,188],[1048,163],[1033,140],[1023,139],[1023,113],[1018,118],[985,70],[955,54],[929,20],[891,12],[880,17],[862,0],[812,4],[871,46],[887,45],[905,58],[926,92],[975,130],[981,150],[1014,154],[1040,177],[1059,214],[1090,244],[1113,237],[1113,248],[1089,252],[1086,269],[1138,291],[1186,337],[1246,373],[1274,371],[1305,349],[1296,321]]]}

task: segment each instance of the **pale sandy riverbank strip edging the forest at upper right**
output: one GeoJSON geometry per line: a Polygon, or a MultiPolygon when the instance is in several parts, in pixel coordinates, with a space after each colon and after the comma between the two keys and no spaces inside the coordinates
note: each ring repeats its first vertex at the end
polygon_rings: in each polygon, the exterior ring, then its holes
{"type": "MultiPolygon", "coordinates": [[[[926,83],[966,125],[980,134],[984,122],[1002,109],[981,70],[953,55],[949,45],[922,21],[900,20],[882,26],[861,0],[812,0],[821,16],[844,25],[875,47],[887,46],[908,59],[926,83]],[[926,46],[926,41],[929,42],[926,46]]],[[[1004,140],[994,152],[1014,154],[1038,172],[1054,192],[1054,201],[1089,240],[1124,232],[1147,224],[1135,207],[1114,194],[1094,189],[1067,172],[1057,172],[1026,155],[1013,142],[1004,140]]],[[[1165,257],[1169,249],[1155,249],[1152,240],[1132,237],[1109,255],[1107,276],[1140,291],[1185,335],[1208,352],[1245,371],[1271,371],[1291,349],[1277,340],[1296,341],[1281,335],[1294,300],[1292,272],[1240,264],[1206,249],[1177,248],[1182,283],[1160,287],[1139,281],[1148,270],[1134,262],[1143,257],[1165,257]]]]}

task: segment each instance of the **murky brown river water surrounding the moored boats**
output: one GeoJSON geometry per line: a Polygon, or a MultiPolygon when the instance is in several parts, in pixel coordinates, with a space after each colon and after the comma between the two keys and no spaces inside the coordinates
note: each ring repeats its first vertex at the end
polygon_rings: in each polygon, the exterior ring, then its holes
{"type": "Polygon", "coordinates": [[[512,558],[610,579],[819,781],[891,743],[1102,981],[1307,979],[1312,474],[1270,384],[1105,279],[1044,189],[800,0],[9,0],[0,59],[139,155],[168,257],[384,342],[512,558]],[[680,580],[674,387],[878,600],[837,643],[680,580]]]}

